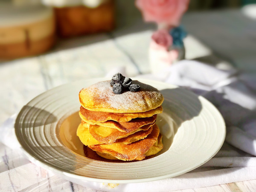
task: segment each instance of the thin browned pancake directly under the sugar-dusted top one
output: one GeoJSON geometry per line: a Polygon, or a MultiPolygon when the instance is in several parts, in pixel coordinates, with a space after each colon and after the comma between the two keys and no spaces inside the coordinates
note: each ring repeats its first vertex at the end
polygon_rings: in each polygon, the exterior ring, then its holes
{"type": "Polygon", "coordinates": [[[151,117],[154,114],[162,113],[162,112],[163,112],[162,106],[159,106],[155,109],[151,109],[150,111],[145,111],[142,113],[108,113],[108,112],[101,112],[101,111],[89,111],[81,106],[79,115],[81,119],[83,119],[85,122],[91,125],[96,125],[97,123],[106,122],[108,120],[113,120],[117,122],[128,122],[131,119],[151,117]]]}

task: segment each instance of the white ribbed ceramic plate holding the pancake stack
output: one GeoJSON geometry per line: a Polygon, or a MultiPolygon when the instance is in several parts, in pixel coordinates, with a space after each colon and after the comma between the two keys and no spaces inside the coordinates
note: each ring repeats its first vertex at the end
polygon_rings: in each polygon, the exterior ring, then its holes
{"type": "Polygon", "coordinates": [[[76,136],[80,123],[78,94],[83,87],[102,80],[105,79],[55,87],[22,108],[15,133],[29,160],[73,182],[135,183],[189,172],[221,148],[226,131],[224,120],[210,102],[170,84],[139,79],[164,96],[163,113],[157,116],[163,150],[154,158],[128,163],[83,157],[83,145],[76,136]]]}

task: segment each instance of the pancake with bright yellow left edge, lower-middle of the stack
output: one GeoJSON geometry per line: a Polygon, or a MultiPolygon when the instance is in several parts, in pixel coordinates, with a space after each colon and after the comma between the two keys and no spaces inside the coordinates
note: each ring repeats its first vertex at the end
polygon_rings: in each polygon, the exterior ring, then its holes
{"type": "Polygon", "coordinates": [[[84,122],[82,122],[80,125],[76,131],[76,134],[84,145],[99,145],[103,143],[110,145],[114,143],[117,139],[121,139],[124,137],[128,138],[127,140],[123,140],[123,142],[129,144],[129,141],[131,143],[137,140],[144,139],[152,131],[152,124],[144,125],[143,127],[130,133],[121,132],[113,128],[90,125],[84,122]],[[136,132],[140,132],[141,135],[134,134],[136,132]]]}

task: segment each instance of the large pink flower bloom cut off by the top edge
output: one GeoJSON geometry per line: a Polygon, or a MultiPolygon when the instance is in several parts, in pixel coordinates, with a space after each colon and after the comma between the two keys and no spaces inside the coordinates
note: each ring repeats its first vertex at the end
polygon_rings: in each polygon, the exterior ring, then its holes
{"type": "Polygon", "coordinates": [[[189,6],[189,0],[136,0],[145,21],[178,26],[189,6]]]}

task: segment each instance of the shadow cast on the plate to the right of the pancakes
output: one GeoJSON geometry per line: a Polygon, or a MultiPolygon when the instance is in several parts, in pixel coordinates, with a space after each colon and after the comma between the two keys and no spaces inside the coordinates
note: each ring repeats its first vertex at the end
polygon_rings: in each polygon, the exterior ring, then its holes
{"type": "Polygon", "coordinates": [[[189,90],[177,87],[160,92],[164,102],[163,113],[157,117],[157,125],[163,135],[163,149],[157,155],[169,150],[182,123],[198,116],[202,109],[198,96],[189,90]]]}

